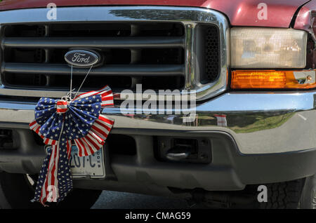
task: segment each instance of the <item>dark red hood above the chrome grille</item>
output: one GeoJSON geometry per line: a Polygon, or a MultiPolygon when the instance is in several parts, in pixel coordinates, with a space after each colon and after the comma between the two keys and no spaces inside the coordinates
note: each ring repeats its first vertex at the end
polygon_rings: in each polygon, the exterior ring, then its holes
{"type": "MultiPolygon", "coordinates": [[[[312,0],[314,1],[314,0],[312,0]]],[[[48,3],[57,6],[110,6],[110,5],[155,5],[192,6],[212,8],[228,16],[232,25],[263,27],[289,27],[297,8],[308,0],[3,0],[0,11],[17,8],[43,8],[48,3]],[[258,4],[268,6],[268,19],[258,20],[258,4]]]]}

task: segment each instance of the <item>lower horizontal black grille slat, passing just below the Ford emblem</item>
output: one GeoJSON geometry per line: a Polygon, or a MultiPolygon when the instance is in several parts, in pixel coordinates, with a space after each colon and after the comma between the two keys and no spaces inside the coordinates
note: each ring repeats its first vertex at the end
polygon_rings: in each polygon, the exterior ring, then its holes
{"type": "MultiPolygon", "coordinates": [[[[69,74],[68,65],[57,64],[34,64],[34,63],[4,63],[1,66],[3,73],[19,74],[46,74],[62,75],[69,74]]],[[[86,75],[87,69],[73,69],[74,75],[86,75]]],[[[181,65],[107,65],[91,69],[91,75],[100,76],[184,76],[184,67],[181,65]]]]}

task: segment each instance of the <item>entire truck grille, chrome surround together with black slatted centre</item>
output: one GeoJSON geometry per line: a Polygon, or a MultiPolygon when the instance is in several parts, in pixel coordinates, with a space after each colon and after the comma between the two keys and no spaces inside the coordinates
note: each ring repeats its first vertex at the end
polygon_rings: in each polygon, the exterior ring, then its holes
{"type": "MultiPolygon", "coordinates": [[[[62,97],[70,73],[63,56],[71,48],[105,56],[84,90],[108,83],[119,93],[142,83],[143,90],[195,90],[206,100],[228,83],[228,21],[206,8],[62,7],[49,21],[46,8],[32,8],[0,12],[0,21],[0,95],[62,97]]],[[[75,69],[74,83],[84,74],[75,69]]]]}

